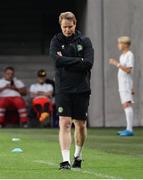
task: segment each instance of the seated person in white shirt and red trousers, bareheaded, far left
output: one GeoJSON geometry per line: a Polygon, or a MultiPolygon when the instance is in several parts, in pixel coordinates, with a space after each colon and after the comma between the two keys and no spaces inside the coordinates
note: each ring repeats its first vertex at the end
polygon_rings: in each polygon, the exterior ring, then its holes
{"type": "Polygon", "coordinates": [[[24,83],[15,77],[15,69],[6,67],[0,79],[0,125],[5,125],[5,112],[14,107],[20,118],[22,127],[27,127],[28,117],[26,103],[22,96],[27,94],[24,83]]]}

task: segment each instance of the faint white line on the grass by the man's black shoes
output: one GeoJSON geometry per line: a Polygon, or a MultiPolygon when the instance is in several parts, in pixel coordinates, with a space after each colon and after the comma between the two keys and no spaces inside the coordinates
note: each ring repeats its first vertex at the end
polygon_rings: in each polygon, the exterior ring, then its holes
{"type": "MultiPolygon", "coordinates": [[[[50,162],[50,161],[45,161],[45,160],[34,160],[33,162],[35,163],[40,163],[40,164],[48,164],[49,166],[53,166],[53,167],[57,167],[57,164],[50,162]]],[[[89,175],[95,175],[95,176],[99,176],[101,178],[107,178],[107,179],[121,179],[119,177],[114,177],[114,176],[108,176],[106,174],[102,174],[102,173],[96,173],[94,171],[87,171],[87,170],[82,170],[82,169],[72,169],[72,171],[76,171],[76,172],[81,172],[83,174],[89,174],[89,175]]]]}

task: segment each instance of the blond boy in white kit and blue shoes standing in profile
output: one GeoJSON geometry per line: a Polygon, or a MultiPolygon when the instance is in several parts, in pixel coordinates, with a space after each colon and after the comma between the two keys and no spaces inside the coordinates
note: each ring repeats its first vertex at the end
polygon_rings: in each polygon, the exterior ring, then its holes
{"type": "Polygon", "coordinates": [[[133,69],[134,69],[134,55],[129,50],[131,40],[128,36],[118,38],[118,49],[122,52],[119,62],[116,59],[110,59],[109,64],[117,67],[118,70],[118,85],[121,103],[123,105],[127,127],[123,131],[119,131],[120,136],[133,136],[133,120],[134,111],[132,104],[134,103],[133,95],[133,69]]]}

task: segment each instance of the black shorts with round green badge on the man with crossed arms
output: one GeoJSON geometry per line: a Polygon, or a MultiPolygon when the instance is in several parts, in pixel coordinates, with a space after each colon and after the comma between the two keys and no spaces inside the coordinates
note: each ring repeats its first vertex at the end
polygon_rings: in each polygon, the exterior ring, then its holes
{"type": "Polygon", "coordinates": [[[59,116],[71,117],[76,120],[86,120],[89,98],[89,93],[57,94],[56,107],[59,116]]]}

